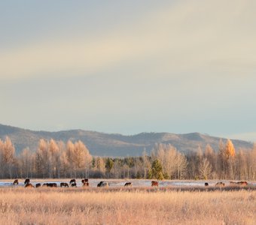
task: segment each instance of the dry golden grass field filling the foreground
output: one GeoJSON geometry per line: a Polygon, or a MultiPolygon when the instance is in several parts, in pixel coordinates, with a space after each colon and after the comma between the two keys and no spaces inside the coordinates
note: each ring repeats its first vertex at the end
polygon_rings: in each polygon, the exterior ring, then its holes
{"type": "Polygon", "coordinates": [[[256,190],[2,187],[1,224],[256,224],[256,190]]]}

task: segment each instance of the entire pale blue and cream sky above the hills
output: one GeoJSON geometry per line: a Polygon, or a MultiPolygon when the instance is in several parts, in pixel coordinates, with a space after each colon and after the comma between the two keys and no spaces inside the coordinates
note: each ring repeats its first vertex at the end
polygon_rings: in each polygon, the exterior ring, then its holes
{"type": "Polygon", "coordinates": [[[256,141],[256,1],[0,1],[0,123],[256,141]]]}

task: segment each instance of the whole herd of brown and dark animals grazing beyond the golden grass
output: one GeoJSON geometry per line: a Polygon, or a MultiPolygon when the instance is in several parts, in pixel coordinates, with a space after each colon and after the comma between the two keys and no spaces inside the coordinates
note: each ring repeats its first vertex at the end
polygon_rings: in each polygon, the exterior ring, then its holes
{"type": "MultiPolygon", "coordinates": [[[[83,187],[89,187],[89,179],[88,178],[84,178],[81,180],[82,186],[83,187]]],[[[14,185],[19,184],[18,179],[14,180],[14,185]]],[[[41,183],[35,184],[35,186],[33,184],[30,183],[30,179],[26,178],[26,180],[24,181],[24,185],[25,187],[57,187],[56,183],[44,183],[41,185],[41,183]]],[[[239,186],[246,186],[248,185],[247,181],[238,181],[238,182],[234,182],[234,181],[230,181],[230,185],[239,185],[239,186]]],[[[99,184],[97,184],[97,187],[108,187],[109,183],[107,181],[100,181],[99,184]]],[[[133,183],[132,182],[126,182],[124,184],[124,187],[132,187],[133,183]]],[[[158,187],[159,186],[159,182],[158,181],[151,181],[151,186],[152,187],[158,187]]],[[[209,186],[209,183],[205,183],[205,186],[209,186]]],[[[215,187],[224,187],[225,184],[224,182],[217,182],[215,184],[215,187]]],[[[66,182],[61,182],[59,184],[59,187],[77,187],[77,183],[75,179],[71,179],[69,181],[69,184],[66,182]]]]}

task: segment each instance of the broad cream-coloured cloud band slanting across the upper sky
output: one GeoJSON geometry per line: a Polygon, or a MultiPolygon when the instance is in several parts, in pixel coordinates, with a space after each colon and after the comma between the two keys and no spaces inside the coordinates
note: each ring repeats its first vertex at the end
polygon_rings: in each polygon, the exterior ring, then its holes
{"type": "Polygon", "coordinates": [[[191,70],[251,73],[256,63],[254,6],[250,0],[179,1],[97,38],[51,37],[5,49],[0,52],[1,79],[84,75],[147,61],[160,71],[153,76],[191,70]]]}

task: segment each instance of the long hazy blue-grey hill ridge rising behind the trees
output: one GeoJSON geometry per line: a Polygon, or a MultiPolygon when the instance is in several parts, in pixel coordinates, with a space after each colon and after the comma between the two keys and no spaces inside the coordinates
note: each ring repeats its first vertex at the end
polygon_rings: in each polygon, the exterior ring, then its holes
{"type": "MultiPolygon", "coordinates": [[[[0,124],[0,139],[9,136],[14,143],[17,153],[23,148],[29,147],[36,151],[39,139],[55,139],[67,142],[81,140],[87,145],[90,154],[99,156],[139,156],[146,149],[148,153],[152,150],[155,143],[169,143],[177,148],[178,151],[187,153],[188,151],[197,151],[198,146],[202,149],[207,144],[211,145],[215,151],[218,151],[220,137],[207,136],[201,133],[139,133],[136,135],[125,136],[114,133],[99,133],[86,130],[64,130],[58,132],[32,131],[19,127],[11,127],[0,124]]],[[[225,143],[227,139],[222,138],[225,143]]],[[[251,142],[232,139],[236,149],[252,148],[251,142]]]]}

